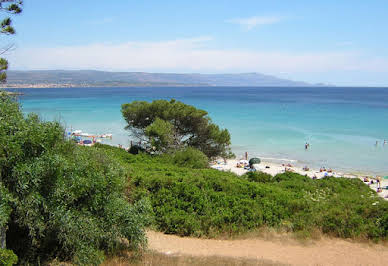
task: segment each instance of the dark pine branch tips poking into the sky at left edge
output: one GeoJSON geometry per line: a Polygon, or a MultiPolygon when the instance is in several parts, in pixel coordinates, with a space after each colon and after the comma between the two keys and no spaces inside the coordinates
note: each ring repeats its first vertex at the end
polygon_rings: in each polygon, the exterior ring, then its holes
{"type": "MultiPolygon", "coordinates": [[[[20,14],[22,12],[23,1],[21,0],[0,0],[0,11],[4,11],[8,14],[20,14]]],[[[15,29],[12,26],[12,19],[10,17],[4,18],[0,22],[0,33],[6,35],[15,34],[15,29]]],[[[0,51],[0,55],[7,52],[12,45],[3,47],[0,51]]],[[[5,82],[7,79],[8,61],[4,58],[0,58],[0,82],[5,82]]]]}

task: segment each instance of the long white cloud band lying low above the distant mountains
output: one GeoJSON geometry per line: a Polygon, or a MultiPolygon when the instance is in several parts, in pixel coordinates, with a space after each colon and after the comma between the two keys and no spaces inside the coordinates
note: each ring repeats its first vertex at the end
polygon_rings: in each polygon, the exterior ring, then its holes
{"type": "Polygon", "coordinates": [[[211,37],[160,42],[95,43],[81,46],[20,48],[8,55],[11,69],[97,69],[237,73],[388,73],[387,58],[355,52],[291,53],[210,49],[211,37]]]}

